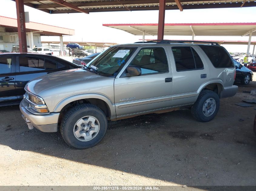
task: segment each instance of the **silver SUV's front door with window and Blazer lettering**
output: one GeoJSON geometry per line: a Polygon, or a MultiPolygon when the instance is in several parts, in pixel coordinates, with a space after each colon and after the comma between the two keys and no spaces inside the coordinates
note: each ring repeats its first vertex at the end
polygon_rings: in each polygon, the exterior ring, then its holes
{"type": "Polygon", "coordinates": [[[141,48],[129,65],[139,66],[141,75],[115,78],[117,117],[171,107],[172,72],[165,49],[141,48]]]}

